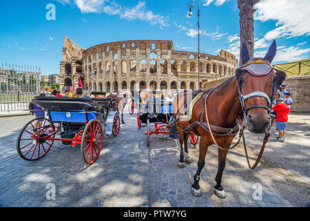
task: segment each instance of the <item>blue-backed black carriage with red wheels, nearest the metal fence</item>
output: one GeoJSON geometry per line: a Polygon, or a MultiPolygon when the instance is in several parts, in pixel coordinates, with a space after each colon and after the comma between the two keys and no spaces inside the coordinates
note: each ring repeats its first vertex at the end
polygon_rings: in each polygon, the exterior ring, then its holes
{"type": "Polygon", "coordinates": [[[105,137],[120,130],[118,111],[110,98],[36,97],[33,104],[45,109],[48,118],[32,119],[17,139],[17,153],[24,160],[39,160],[54,141],[80,146],[87,164],[96,162],[105,137]]]}

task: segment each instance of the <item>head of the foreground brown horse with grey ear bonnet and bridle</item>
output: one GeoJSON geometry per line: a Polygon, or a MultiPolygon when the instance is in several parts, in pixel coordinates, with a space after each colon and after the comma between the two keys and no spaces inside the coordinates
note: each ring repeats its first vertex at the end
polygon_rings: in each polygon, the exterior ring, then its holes
{"type": "Polygon", "coordinates": [[[269,131],[273,96],[286,77],[284,72],[271,66],[275,55],[274,40],[264,58],[250,58],[247,45],[242,44],[242,66],[236,70],[236,78],[245,122],[252,133],[269,131]]]}

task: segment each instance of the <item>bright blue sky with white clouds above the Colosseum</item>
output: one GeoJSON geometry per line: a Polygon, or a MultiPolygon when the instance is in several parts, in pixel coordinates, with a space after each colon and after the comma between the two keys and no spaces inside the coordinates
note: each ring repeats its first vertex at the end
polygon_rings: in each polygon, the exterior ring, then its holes
{"type": "MultiPolygon", "coordinates": [[[[83,48],[111,41],[167,39],[176,50],[197,51],[197,12],[187,17],[184,0],[11,0],[0,7],[2,63],[40,66],[43,75],[59,73],[63,36],[83,48]],[[56,20],[46,6],[54,4],[56,20]]],[[[237,0],[200,0],[200,50],[220,49],[238,57],[237,0]]],[[[262,57],[273,39],[274,63],[310,57],[309,0],[260,0],[254,21],[255,55],[262,57]]]]}

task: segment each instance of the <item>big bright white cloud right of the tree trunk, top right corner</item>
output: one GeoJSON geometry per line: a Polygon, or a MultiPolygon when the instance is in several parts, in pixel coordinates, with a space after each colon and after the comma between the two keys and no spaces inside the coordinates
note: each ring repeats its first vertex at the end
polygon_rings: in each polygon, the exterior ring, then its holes
{"type": "Polygon", "coordinates": [[[256,20],[274,20],[277,28],[267,32],[265,39],[310,35],[309,1],[261,0],[256,4],[256,20]]]}

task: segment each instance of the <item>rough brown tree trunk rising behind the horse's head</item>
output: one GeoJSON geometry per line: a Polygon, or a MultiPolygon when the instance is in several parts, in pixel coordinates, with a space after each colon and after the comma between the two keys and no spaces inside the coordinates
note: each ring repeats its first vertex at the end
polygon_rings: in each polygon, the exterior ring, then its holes
{"type": "MultiPolygon", "coordinates": [[[[254,5],[260,0],[238,0],[240,23],[240,50],[243,42],[247,44],[249,56],[254,56],[254,5]]],[[[239,65],[242,61],[240,57],[239,65]]]]}

